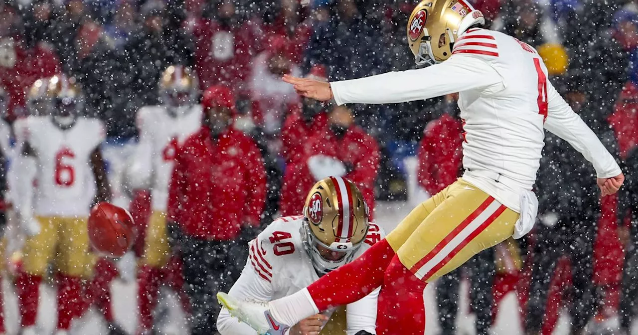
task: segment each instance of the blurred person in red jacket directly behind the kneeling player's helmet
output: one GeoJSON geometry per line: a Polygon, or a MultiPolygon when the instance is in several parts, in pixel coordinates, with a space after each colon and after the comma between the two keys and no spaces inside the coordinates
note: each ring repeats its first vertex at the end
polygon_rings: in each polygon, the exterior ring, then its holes
{"type": "Polygon", "coordinates": [[[313,132],[304,144],[308,158],[306,173],[313,178],[309,186],[329,175],[345,177],[361,190],[372,221],[380,156],[376,140],[354,123],[352,110],[347,107],[333,107],[328,115],[328,126],[329,131],[313,132]]]}

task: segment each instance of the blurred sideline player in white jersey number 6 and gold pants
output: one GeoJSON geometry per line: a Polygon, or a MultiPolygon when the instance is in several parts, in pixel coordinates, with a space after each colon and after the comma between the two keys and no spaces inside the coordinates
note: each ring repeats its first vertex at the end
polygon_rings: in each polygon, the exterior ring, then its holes
{"type": "Polygon", "coordinates": [[[22,334],[36,334],[42,276],[57,265],[57,334],[67,334],[81,308],[81,277],[89,267],[87,216],[97,186],[99,201],[110,199],[100,144],[101,121],[80,117],[84,99],[74,78],[48,78],[52,115],[16,121],[22,156],[16,172],[17,207],[22,225],[32,228],[24,243],[23,270],[16,282],[22,334]],[[36,187],[30,181],[36,182],[36,187]],[[33,199],[33,203],[32,203],[33,199]]]}

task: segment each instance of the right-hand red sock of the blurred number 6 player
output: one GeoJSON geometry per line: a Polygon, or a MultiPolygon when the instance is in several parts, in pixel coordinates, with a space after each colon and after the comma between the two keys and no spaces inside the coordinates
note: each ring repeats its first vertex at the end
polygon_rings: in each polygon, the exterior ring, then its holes
{"type": "Polygon", "coordinates": [[[71,320],[82,308],[80,289],[82,282],[79,277],[57,275],[57,329],[69,329],[71,320]]]}

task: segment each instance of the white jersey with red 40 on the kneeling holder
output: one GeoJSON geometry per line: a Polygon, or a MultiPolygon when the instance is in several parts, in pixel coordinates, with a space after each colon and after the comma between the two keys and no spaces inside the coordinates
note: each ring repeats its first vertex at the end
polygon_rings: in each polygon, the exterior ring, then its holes
{"type": "MultiPolygon", "coordinates": [[[[272,301],[306,288],[319,279],[304,249],[302,223],[302,216],[279,218],[251,241],[246,267],[228,294],[241,300],[272,301]]],[[[385,232],[378,225],[370,223],[366,241],[357,250],[355,258],[383,238],[385,232]]],[[[363,299],[346,306],[345,334],[353,335],[359,331],[376,334],[378,291],[376,289],[363,299]]],[[[330,316],[333,312],[334,309],[325,311],[324,314],[330,316]]],[[[222,309],[219,313],[217,325],[221,335],[256,334],[249,325],[230,316],[227,309],[222,309]]],[[[344,330],[339,333],[344,334],[344,330]]]]}

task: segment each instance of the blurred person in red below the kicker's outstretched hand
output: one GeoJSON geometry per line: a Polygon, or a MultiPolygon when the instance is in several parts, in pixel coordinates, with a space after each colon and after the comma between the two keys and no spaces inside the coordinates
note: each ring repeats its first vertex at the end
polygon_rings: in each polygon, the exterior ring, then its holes
{"type": "MultiPolygon", "coordinates": [[[[327,81],[325,69],[315,66],[308,78],[327,81]]],[[[295,108],[286,117],[281,130],[281,154],[286,161],[286,170],[281,186],[279,211],[282,216],[299,212],[299,199],[308,194],[316,182],[308,172],[306,140],[315,134],[325,134],[328,130],[328,116],[325,106],[319,101],[302,98],[301,107],[295,108]]]]}

